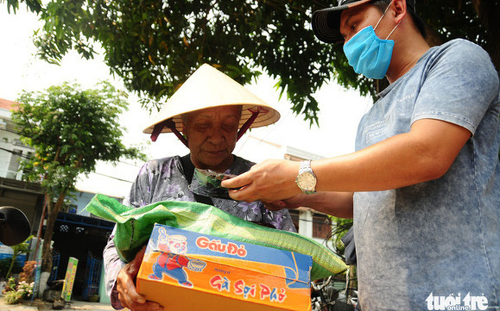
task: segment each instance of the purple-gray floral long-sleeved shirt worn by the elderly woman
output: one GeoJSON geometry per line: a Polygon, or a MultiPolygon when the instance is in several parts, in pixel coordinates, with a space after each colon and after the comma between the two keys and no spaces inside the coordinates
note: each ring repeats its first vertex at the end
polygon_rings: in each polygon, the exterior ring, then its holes
{"type": "MultiPolygon", "coordinates": [[[[225,172],[227,174],[239,175],[247,172],[253,165],[240,157],[234,156],[234,163],[225,172]]],[[[192,185],[199,183],[196,174],[192,178],[192,185]]],[[[161,201],[189,201],[196,202],[195,195],[190,191],[188,180],[184,176],[179,156],[152,160],[142,166],[132,185],[129,198],[123,204],[141,207],[161,201]]],[[[223,198],[212,198],[217,208],[247,221],[255,221],[271,224],[279,230],[297,232],[290,213],[287,209],[282,211],[268,211],[262,202],[241,202],[223,198]]],[[[125,266],[125,262],[118,258],[116,248],[112,241],[114,231],[110,236],[108,244],[104,248],[104,268],[107,293],[110,294],[113,308],[123,308],[118,300],[116,291],[116,277],[118,272],[125,266]]]]}

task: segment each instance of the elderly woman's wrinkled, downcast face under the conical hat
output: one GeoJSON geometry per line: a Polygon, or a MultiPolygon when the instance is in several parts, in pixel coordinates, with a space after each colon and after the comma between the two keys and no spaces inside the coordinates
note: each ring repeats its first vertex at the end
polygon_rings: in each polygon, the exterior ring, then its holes
{"type": "Polygon", "coordinates": [[[195,167],[223,172],[233,163],[240,117],[241,106],[208,108],[184,116],[183,132],[195,167]]]}

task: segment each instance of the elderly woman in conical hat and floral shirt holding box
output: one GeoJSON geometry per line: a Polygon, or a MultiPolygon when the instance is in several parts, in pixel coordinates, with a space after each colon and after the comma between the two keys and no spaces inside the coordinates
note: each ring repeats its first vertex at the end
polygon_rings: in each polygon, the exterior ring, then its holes
{"type": "MultiPolygon", "coordinates": [[[[204,64],[168,99],[144,131],[151,133],[153,141],[160,133],[175,133],[190,154],[147,162],[132,185],[128,204],[140,207],[167,200],[202,202],[248,221],[295,232],[288,210],[268,211],[261,202],[210,197],[193,193],[190,187],[203,183],[193,174],[195,167],[234,175],[247,172],[254,163],[232,154],[236,141],[247,129],[273,124],[278,119],[275,109],[227,75],[204,64]]],[[[145,301],[136,292],[134,278],[143,252],[125,265],[118,258],[112,237],[113,234],[103,254],[112,306],[163,310],[158,303],[145,301]]]]}

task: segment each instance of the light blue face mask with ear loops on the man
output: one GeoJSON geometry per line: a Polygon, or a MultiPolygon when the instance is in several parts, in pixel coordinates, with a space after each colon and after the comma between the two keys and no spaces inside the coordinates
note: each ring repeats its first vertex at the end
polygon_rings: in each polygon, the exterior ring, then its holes
{"type": "MultiPolygon", "coordinates": [[[[382,21],[386,12],[380,17],[375,28],[382,21]]],[[[398,25],[392,29],[386,40],[377,37],[375,29],[368,26],[356,33],[351,40],[345,42],[344,53],[347,56],[347,60],[349,60],[349,65],[354,68],[356,73],[361,73],[370,79],[382,79],[385,77],[390,59],[392,58],[392,48],[394,48],[394,40],[387,39],[398,25]]]]}

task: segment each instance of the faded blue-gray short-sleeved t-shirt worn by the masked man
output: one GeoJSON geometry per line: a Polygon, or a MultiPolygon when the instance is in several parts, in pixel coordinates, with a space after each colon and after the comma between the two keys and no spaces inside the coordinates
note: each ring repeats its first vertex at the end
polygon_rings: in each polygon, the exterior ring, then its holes
{"type": "Polygon", "coordinates": [[[355,193],[364,311],[445,310],[445,298],[463,307],[467,294],[486,297],[488,310],[498,310],[499,111],[499,78],[488,54],[472,42],[452,40],[427,51],[362,118],[356,150],[408,133],[421,119],[458,124],[473,134],[441,178],[355,193]]]}

